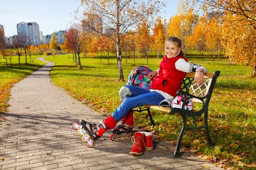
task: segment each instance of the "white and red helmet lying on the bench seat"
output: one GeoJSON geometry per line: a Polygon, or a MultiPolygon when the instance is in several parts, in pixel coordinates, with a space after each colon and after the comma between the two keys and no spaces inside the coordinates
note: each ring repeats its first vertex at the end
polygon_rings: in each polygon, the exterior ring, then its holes
{"type": "Polygon", "coordinates": [[[186,97],[184,95],[176,96],[172,100],[172,108],[181,108],[184,100],[186,100],[186,103],[184,104],[183,108],[186,110],[189,110],[189,111],[193,110],[194,104],[193,104],[192,100],[190,98],[186,99],[186,97]]]}

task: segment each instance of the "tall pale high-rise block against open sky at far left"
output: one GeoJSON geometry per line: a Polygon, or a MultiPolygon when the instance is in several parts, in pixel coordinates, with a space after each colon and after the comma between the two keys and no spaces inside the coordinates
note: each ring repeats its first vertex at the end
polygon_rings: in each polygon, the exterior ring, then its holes
{"type": "Polygon", "coordinates": [[[17,34],[26,34],[32,44],[40,44],[40,33],[39,26],[37,23],[18,23],[17,24],[17,34]]]}

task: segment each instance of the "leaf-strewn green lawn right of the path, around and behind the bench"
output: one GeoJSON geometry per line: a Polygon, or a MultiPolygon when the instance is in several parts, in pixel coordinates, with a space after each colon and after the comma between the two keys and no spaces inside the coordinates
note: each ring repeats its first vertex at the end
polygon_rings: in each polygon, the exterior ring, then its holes
{"type": "MultiPolygon", "coordinates": [[[[227,160],[222,164],[239,167],[239,164],[245,163],[247,167],[241,169],[253,169],[256,161],[256,81],[251,77],[252,69],[246,65],[233,65],[225,58],[218,60],[217,55],[215,61],[195,53],[187,57],[189,62],[204,65],[208,72],[221,71],[221,76],[217,79],[209,104],[209,129],[215,147],[208,147],[204,130],[199,130],[186,131],[183,149],[191,150],[216,165],[221,160],[227,160]]],[[[119,89],[126,83],[118,81],[119,69],[115,58],[112,57],[109,63],[106,57],[102,58],[102,62],[99,58],[81,58],[82,69],[78,69],[72,55],[44,59],[56,63],[50,73],[53,83],[67,90],[74,98],[84,101],[84,104],[106,116],[119,106],[119,89]]],[[[125,80],[133,68],[147,66],[145,57],[136,59],[136,65],[133,65],[133,58],[128,58],[127,63],[124,58],[122,61],[125,80]]],[[[150,57],[148,67],[151,70],[158,69],[160,61],[150,57]]],[[[150,125],[146,112],[135,113],[135,125],[154,130],[159,140],[175,143],[182,125],[181,117],[153,110],[152,116],[155,126],[150,125]]]]}

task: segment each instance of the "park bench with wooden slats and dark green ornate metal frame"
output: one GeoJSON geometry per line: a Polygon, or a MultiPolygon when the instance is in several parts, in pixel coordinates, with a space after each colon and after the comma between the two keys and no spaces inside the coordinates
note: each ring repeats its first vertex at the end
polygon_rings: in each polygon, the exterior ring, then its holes
{"type": "Polygon", "coordinates": [[[170,115],[175,113],[180,114],[180,116],[183,119],[183,125],[182,125],[180,135],[176,144],[173,158],[180,156],[181,141],[186,130],[197,130],[197,129],[204,128],[206,131],[206,136],[207,136],[209,146],[213,147],[212,139],[211,139],[209,128],[208,128],[208,107],[209,107],[209,102],[212,96],[212,91],[215,86],[215,82],[219,75],[220,75],[220,71],[204,74],[205,83],[200,87],[196,87],[195,83],[193,83],[195,73],[187,73],[185,78],[183,79],[180,90],[177,91],[177,95],[183,94],[186,97],[190,97],[194,104],[201,103],[200,110],[188,111],[180,108],[163,108],[156,105],[144,105],[134,110],[139,112],[148,111],[148,116],[149,116],[151,125],[154,125],[154,121],[152,119],[150,109],[156,109],[159,111],[167,112],[170,115]],[[198,123],[201,122],[200,117],[203,113],[204,113],[204,125],[198,127],[198,123]],[[190,125],[190,127],[188,127],[187,124],[190,125]]]}

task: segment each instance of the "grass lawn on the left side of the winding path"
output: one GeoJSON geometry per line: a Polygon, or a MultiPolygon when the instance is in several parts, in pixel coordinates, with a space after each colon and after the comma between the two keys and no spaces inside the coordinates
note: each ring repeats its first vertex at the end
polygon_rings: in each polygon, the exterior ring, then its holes
{"type": "MultiPolygon", "coordinates": [[[[20,57],[20,66],[18,62],[18,57],[13,56],[11,63],[12,67],[7,68],[6,59],[1,58],[0,60],[0,113],[7,111],[7,101],[9,97],[9,90],[12,85],[21,79],[27,77],[29,74],[44,65],[38,59],[40,56],[31,56],[31,61],[29,62],[29,57],[27,57],[27,65],[25,65],[25,56],[20,57]]],[[[8,60],[8,65],[10,66],[10,61],[8,60]]]]}

